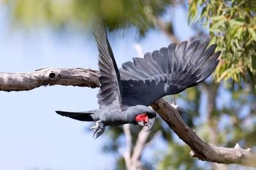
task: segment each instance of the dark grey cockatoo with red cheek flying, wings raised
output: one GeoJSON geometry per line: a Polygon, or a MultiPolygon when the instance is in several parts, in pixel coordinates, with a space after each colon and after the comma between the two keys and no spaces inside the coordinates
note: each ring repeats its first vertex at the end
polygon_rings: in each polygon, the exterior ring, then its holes
{"type": "Polygon", "coordinates": [[[150,130],[156,112],[148,107],[166,95],[180,93],[204,81],[218,65],[220,51],[209,43],[171,43],[144,58],[133,58],[118,70],[105,27],[97,24],[94,30],[99,50],[99,109],[86,112],[56,111],[61,116],[80,121],[96,121],[91,127],[93,137],[104,133],[106,126],[126,123],[141,125],[150,130]]]}

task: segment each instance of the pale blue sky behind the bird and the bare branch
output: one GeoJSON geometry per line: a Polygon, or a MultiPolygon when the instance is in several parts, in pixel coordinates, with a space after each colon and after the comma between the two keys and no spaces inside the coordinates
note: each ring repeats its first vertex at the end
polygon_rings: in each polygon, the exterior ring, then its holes
{"type": "MultiPolygon", "coordinates": [[[[188,39],[193,31],[188,29],[186,13],[178,8],[175,16],[177,35],[188,39]]],[[[30,33],[13,29],[3,6],[0,23],[0,72],[30,72],[44,67],[97,69],[97,47],[90,35],[61,38],[47,29],[30,33]]],[[[118,66],[137,56],[134,43],[140,43],[143,52],[170,43],[156,31],[150,31],[140,42],[133,31],[122,38],[109,37],[118,66]]],[[[54,112],[96,109],[97,91],[72,86],[0,91],[0,169],[112,169],[115,157],[100,151],[104,135],[94,140],[88,123],[54,112]]]]}

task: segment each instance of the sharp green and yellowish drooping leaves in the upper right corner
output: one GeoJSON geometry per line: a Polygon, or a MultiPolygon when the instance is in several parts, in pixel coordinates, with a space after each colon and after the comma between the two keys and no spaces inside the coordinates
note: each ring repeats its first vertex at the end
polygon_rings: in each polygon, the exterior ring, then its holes
{"type": "Polygon", "coordinates": [[[211,42],[221,50],[218,81],[256,81],[256,1],[193,0],[189,4],[191,22],[201,22],[209,30],[211,42]]]}

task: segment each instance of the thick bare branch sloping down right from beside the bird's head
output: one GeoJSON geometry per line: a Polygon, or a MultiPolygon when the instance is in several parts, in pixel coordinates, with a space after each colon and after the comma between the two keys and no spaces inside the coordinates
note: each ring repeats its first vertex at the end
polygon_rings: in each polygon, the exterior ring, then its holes
{"type": "Polygon", "coordinates": [[[182,120],[179,112],[163,99],[152,104],[154,110],[166,121],[170,128],[191,148],[191,156],[200,160],[221,164],[241,164],[256,167],[256,154],[250,149],[223,148],[205,143],[203,139],[182,120]]]}

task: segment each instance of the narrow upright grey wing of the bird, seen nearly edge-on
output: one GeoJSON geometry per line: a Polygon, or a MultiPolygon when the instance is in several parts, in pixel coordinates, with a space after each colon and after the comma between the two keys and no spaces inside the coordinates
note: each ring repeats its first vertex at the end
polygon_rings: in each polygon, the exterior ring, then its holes
{"type": "Polygon", "coordinates": [[[101,23],[97,23],[94,30],[95,40],[99,49],[99,81],[100,90],[97,94],[100,108],[111,104],[122,106],[122,84],[116,61],[108,42],[106,30],[101,23]]]}

